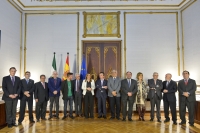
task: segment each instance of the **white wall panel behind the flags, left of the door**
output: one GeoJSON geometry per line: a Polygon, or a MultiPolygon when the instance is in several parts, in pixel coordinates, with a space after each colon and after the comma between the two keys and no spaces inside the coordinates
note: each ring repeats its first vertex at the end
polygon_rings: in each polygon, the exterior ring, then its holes
{"type": "Polygon", "coordinates": [[[32,79],[51,76],[53,53],[59,76],[63,74],[67,52],[70,70],[73,71],[77,47],[77,14],[42,14],[27,16],[27,63],[26,70],[32,79]]]}

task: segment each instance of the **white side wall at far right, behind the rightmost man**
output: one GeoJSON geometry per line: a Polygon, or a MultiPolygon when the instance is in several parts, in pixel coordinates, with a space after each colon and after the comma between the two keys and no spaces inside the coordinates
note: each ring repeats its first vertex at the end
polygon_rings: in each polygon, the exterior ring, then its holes
{"type": "Polygon", "coordinates": [[[200,85],[200,1],[197,0],[182,13],[185,69],[200,85]]]}

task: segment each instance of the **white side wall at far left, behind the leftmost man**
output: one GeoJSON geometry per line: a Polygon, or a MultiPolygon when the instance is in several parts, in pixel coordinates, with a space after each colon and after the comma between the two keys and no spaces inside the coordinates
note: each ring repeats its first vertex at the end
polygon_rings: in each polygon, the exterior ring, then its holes
{"type": "Polygon", "coordinates": [[[20,25],[21,13],[7,0],[0,1],[0,86],[2,77],[9,75],[9,68],[16,67],[20,72],[20,25]]]}

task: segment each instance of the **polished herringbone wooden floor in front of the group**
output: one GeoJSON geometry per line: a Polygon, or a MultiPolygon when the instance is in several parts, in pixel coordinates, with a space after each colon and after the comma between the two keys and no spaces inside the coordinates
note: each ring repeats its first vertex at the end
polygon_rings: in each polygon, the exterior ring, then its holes
{"type": "MultiPolygon", "coordinates": [[[[96,117],[94,119],[75,118],[62,120],[63,114],[60,114],[60,119],[52,119],[46,121],[29,124],[28,116],[23,121],[22,125],[12,128],[2,128],[0,133],[200,133],[200,125],[194,124],[190,127],[187,123],[185,126],[173,125],[172,121],[164,123],[162,114],[162,122],[158,123],[156,119],[150,122],[149,113],[146,113],[146,121],[138,121],[138,116],[133,116],[133,122],[123,122],[121,120],[105,120],[96,117]]],[[[48,114],[47,117],[48,118],[48,114]]],[[[180,120],[178,119],[179,123],[180,120]]]]}

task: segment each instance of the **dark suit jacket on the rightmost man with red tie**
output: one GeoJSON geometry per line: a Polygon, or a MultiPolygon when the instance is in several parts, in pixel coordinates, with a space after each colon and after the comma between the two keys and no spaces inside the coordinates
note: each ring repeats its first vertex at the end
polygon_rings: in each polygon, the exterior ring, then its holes
{"type": "Polygon", "coordinates": [[[189,79],[187,85],[185,85],[184,79],[180,80],[178,82],[178,91],[179,91],[180,101],[186,101],[186,100],[188,100],[189,102],[196,101],[196,94],[195,94],[196,88],[197,86],[196,86],[195,80],[189,79]],[[189,92],[190,93],[189,97],[183,96],[183,92],[189,92]]]}

